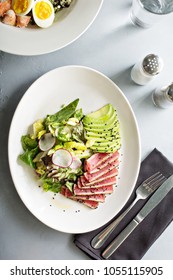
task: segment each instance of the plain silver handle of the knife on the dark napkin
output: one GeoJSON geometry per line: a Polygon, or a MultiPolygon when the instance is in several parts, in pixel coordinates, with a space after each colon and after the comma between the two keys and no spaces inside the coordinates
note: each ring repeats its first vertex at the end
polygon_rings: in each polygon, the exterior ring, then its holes
{"type": "Polygon", "coordinates": [[[109,246],[103,251],[102,257],[108,259],[119,248],[119,246],[125,241],[125,239],[132,233],[132,231],[138,226],[139,222],[133,219],[126,228],[109,244],[109,246]]]}

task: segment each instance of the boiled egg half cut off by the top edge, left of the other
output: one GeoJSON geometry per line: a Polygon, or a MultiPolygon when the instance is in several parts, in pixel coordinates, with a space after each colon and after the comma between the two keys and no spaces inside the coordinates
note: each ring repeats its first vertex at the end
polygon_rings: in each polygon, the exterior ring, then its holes
{"type": "Polygon", "coordinates": [[[34,0],[12,0],[12,8],[16,15],[27,15],[34,4],[34,0]]]}

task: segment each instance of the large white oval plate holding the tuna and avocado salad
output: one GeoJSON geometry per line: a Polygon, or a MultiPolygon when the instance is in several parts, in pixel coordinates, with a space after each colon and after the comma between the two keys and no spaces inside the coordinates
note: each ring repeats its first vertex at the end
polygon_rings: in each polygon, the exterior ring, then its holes
{"type": "Polygon", "coordinates": [[[9,164],[17,192],[27,208],[51,228],[69,233],[94,230],[123,207],[136,182],[140,165],[140,140],[133,111],[122,91],[103,74],[82,66],[57,68],[36,80],[21,99],[9,133],[9,164]],[[22,153],[21,136],[37,119],[44,118],[79,98],[84,114],[111,103],[121,125],[120,179],[114,193],[98,209],[43,192],[30,167],[17,158],[22,153]],[[53,199],[54,198],[54,199],[53,199]],[[51,206],[50,206],[51,205],[51,206]]]}

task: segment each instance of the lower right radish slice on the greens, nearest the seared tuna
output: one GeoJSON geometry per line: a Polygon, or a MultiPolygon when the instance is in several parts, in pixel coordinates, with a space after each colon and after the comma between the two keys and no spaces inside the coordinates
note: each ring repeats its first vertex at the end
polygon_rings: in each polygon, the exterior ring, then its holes
{"type": "Polygon", "coordinates": [[[59,167],[69,167],[72,164],[73,158],[71,153],[66,149],[58,149],[52,155],[52,162],[59,167]]]}

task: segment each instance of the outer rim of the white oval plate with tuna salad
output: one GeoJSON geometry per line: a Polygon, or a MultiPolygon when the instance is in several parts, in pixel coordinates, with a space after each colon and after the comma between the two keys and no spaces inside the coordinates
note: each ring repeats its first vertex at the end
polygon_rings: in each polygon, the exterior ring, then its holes
{"type": "MultiPolygon", "coordinates": [[[[129,109],[130,109],[130,112],[132,113],[132,116],[133,116],[133,121],[134,121],[134,124],[135,124],[135,128],[136,128],[136,133],[137,133],[137,140],[138,140],[138,162],[137,162],[137,170],[136,170],[136,173],[135,173],[135,177],[133,179],[134,183],[133,183],[133,186],[131,188],[131,191],[129,193],[129,196],[126,197],[126,200],[124,202],[124,204],[122,205],[122,207],[119,209],[119,211],[124,207],[124,205],[127,203],[130,195],[132,194],[133,190],[134,190],[134,187],[135,187],[135,184],[137,182],[137,178],[138,178],[138,175],[139,175],[139,169],[140,169],[140,163],[141,163],[141,140],[140,140],[140,133],[139,133],[139,127],[138,127],[138,123],[137,123],[137,119],[136,119],[136,116],[134,114],[134,111],[127,99],[127,97],[124,95],[124,93],[122,92],[122,90],[108,77],[106,76],[105,74],[103,74],[102,72],[94,69],[94,68],[91,68],[91,67],[88,67],[88,66],[83,66],[83,65],[65,65],[65,66],[61,66],[61,67],[57,67],[57,68],[54,68],[48,72],[46,72],[45,74],[41,75],[39,78],[37,78],[30,86],[29,88],[24,92],[22,98],[20,99],[20,101],[18,102],[18,105],[16,106],[16,109],[13,113],[13,116],[12,116],[12,120],[11,120],[11,124],[10,124],[10,128],[9,128],[9,134],[8,134],[8,163],[9,163],[9,167],[10,167],[10,174],[11,174],[11,177],[12,177],[12,180],[13,180],[13,184],[14,184],[14,187],[20,197],[20,199],[22,200],[22,202],[24,203],[25,207],[30,211],[30,213],[32,215],[34,215],[34,217],[36,217],[39,221],[41,221],[44,225],[54,229],[54,230],[57,230],[57,231],[60,231],[60,232],[65,232],[65,233],[70,233],[70,234],[80,234],[80,233],[85,233],[85,232],[89,232],[89,231],[92,231],[92,230],[95,230],[97,229],[98,227],[96,228],[92,228],[90,230],[85,230],[85,231],[67,231],[67,230],[63,230],[63,229],[59,229],[57,227],[54,227],[51,225],[51,223],[49,222],[45,222],[43,219],[41,219],[40,217],[38,217],[37,214],[35,214],[35,212],[33,211],[33,209],[30,208],[29,204],[26,203],[26,201],[23,199],[23,197],[21,196],[20,194],[20,191],[18,189],[18,187],[16,186],[16,180],[14,178],[14,172],[12,172],[12,167],[11,167],[11,161],[10,161],[10,138],[11,138],[11,133],[12,133],[12,129],[13,129],[13,123],[15,121],[15,116],[16,116],[16,112],[18,111],[18,108],[20,107],[20,104],[22,103],[22,100],[26,98],[26,96],[28,95],[28,92],[30,91],[30,88],[32,88],[32,86],[34,86],[35,83],[37,83],[38,80],[41,80],[41,79],[44,79],[45,76],[48,76],[48,75],[51,75],[52,72],[56,72],[58,70],[61,71],[61,69],[66,69],[66,68],[78,68],[78,69],[84,69],[84,70],[89,70],[91,72],[95,72],[96,74],[102,76],[104,79],[108,80],[116,89],[118,89],[119,92],[121,92],[123,98],[125,99],[129,109]]],[[[117,212],[118,213],[118,212],[117,212]]],[[[116,213],[115,213],[116,214],[116,213]]],[[[113,214],[109,220],[107,220],[107,222],[109,222],[115,215],[113,214]]],[[[105,223],[104,223],[105,224],[105,223]]],[[[103,226],[104,224],[100,225],[99,227],[103,226]]]]}

